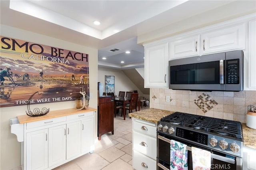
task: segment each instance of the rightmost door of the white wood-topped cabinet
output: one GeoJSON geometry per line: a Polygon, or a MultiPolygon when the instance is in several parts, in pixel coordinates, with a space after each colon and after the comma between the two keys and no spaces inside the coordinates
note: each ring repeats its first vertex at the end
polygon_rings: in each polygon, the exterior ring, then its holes
{"type": "Polygon", "coordinates": [[[81,135],[82,152],[91,152],[94,150],[94,121],[93,118],[82,120],[81,135]]]}

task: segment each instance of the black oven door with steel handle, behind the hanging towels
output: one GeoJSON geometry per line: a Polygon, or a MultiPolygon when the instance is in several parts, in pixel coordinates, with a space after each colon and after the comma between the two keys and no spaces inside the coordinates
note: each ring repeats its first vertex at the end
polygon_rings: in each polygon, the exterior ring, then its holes
{"type": "Polygon", "coordinates": [[[157,170],[170,170],[170,140],[176,140],[187,145],[188,169],[193,170],[191,147],[201,148],[211,152],[212,170],[242,170],[242,158],[230,156],[222,152],[217,152],[197,144],[188,143],[180,139],[157,133],[157,170]]]}

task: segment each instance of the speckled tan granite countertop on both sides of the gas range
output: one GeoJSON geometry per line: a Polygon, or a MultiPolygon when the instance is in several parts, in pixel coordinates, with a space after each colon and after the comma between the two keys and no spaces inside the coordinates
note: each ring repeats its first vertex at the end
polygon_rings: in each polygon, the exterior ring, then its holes
{"type": "MultiPolygon", "coordinates": [[[[141,119],[144,121],[157,123],[162,117],[174,113],[173,111],[165,111],[160,109],[145,109],[142,111],[129,113],[129,117],[141,119]]],[[[244,146],[256,149],[256,129],[249,128],[245,123],[242,123],[244,146]]]]}

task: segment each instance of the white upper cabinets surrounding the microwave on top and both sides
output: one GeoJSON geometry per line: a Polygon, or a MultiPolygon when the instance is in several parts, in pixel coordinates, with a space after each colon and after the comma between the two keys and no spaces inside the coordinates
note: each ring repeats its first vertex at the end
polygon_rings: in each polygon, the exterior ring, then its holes
{"type": "Polygon", "coordinates": [[[145,88],[168,87],[169,60],[243,50],[244,90],[256,90],[255,22],[255,14],[250,14],[147,43],[144,45],[145,88]]]}

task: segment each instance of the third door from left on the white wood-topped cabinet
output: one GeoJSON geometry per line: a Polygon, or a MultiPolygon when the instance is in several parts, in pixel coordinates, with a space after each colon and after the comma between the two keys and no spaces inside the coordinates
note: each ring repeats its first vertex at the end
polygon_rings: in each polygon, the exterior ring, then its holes
{"type": "Polygon", "coordinates": [[[72,158],[81,153],[81,121],[67,124],[66,158],[72,158]]]}

